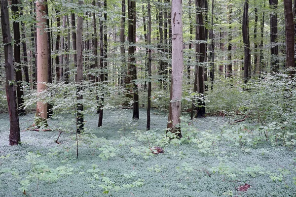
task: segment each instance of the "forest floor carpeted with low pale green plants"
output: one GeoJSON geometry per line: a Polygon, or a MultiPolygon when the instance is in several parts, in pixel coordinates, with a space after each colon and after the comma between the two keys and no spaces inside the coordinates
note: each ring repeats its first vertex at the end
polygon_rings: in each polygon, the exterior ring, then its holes
{"type": "Polygon", "coordinates": [[[86,115],[76,159],[73,115],[49,120],[52,131],[26,130],[34,114],[21,116],[22,144],[9,146],[0,114],[0,197],[296,197],[293,148],[229,130],[227,117],[184,114],[184,137],[171,141],[166,114],[152,111],[150,131],[144,109],[131,117],[131,109],[105,110],[97,128],[98,115],[86,115]],[[152,154],[155,146],[164,153],[152,154]]]}

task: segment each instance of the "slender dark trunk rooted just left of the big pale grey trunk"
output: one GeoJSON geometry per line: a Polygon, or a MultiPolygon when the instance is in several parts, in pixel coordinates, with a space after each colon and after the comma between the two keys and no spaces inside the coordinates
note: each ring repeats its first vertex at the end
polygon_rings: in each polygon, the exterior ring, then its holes
{"type": "Polygon", "coordinates": [[[151,5],[148,0],[148,105],[147,105],[147,126],[146,129],[150,130],[150,108],[151,108],[151,62],[152,62],[152,50],[151,50],[151,5]]]}

